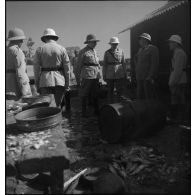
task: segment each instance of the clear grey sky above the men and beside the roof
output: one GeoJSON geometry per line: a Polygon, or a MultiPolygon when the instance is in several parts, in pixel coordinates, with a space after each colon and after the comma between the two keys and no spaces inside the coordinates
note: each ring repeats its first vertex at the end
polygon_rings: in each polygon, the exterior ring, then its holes
{"type": "MultiPolygon", "coordinates": [[[[6,2],[6,36],[15,27],[35,41],[43,43],[45,28],[53,28],[64,47],[83,48],[87,34],[100,40],[96,50],[103,58],[111,37],[117,36],[125,57],[130,57],[130,32],[121,30],[164,5],[166,1],[13,1],[6,2]]],[[[24,44],[25,45],[25,44],[24,44]]],[[[23,46],[25,49],[25,46],[23,46]]]]}

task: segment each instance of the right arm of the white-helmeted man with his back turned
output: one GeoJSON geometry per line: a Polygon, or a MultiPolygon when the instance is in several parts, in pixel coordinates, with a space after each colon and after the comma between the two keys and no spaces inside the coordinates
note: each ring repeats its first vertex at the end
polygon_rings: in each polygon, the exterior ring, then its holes
{"type": "Polygon", "coordinates": [[[65,89],[69,89],[70,86],[70,60],[66,49],[63,51],[63,68],[64,68],[64,78],[65,78],[65,89]]]}

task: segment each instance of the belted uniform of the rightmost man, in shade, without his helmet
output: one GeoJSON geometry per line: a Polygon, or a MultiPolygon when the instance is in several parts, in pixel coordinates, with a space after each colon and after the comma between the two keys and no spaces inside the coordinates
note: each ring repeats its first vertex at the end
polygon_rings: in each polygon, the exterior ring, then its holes
{"type": "Polygon", "coordinates": [[[176,48],[172,58],[172,68],[169,78],[172,104],[185,104],[186,67],[186,53],[182,48],[176,48]]]}

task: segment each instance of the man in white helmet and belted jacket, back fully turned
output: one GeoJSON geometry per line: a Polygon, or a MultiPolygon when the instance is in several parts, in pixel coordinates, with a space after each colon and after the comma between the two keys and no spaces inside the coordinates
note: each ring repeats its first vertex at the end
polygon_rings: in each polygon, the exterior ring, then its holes
{"type": "Polygon", "coordinates": [[[53,29],[44,31],[41,40],[45,44],[36,51],[34,73],[40,93],[54,94],[54,102],[60,108],[64,93],[69,91],[70,61],[66,49],[56,43],[58,38],[53,29]]]}

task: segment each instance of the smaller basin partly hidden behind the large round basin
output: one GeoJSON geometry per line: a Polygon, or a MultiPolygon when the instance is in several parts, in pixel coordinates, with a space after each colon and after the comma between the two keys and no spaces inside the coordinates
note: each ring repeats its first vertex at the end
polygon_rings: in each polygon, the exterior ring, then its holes
{"type": "Polygon", "coordinates": [[[51,95],[37,95],[37,96],[24,97],[22,98],[22,102],[28,104],[48,102],[50,104],[51,95]]]}

